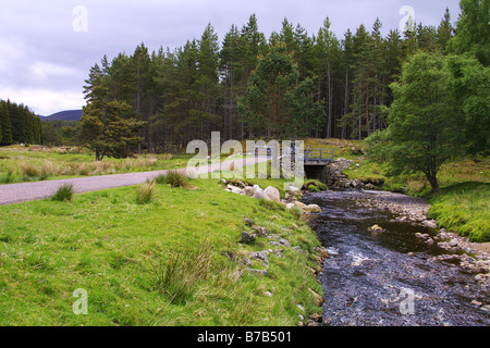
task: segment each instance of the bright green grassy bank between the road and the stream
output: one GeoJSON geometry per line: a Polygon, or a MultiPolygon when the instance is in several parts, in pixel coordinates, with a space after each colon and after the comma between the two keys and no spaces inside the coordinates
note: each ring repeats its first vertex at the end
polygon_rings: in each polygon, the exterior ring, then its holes
{"type": "Polygon", "coordinates": [[[137,196],[126,187],[0,207],[0,325],[297,325],[299,314],[321,312],[308,269],[319,243],[297,215],[217,179],[137,196]],[[291,247],[241,244],[244,217],[291,247]],[[268,264],[253,260],[267,276],[247,271],[243,257],[267,249],[283,249],[268,264]],[[73,313],[79,288],[87,315],[73,313]]]}

